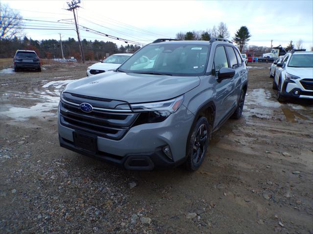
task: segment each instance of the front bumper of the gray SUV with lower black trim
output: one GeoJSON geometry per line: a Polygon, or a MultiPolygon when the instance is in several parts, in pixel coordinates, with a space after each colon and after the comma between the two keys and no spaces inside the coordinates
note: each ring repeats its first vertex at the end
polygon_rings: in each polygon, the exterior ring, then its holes
{"type": "Polygon", "coordinates": [[[120,140],[97,137],[96,153],[76,147],[73,140],[75,130],[63,126],[59,119],[62,147],[128,170],[152,170],[176,167],[186,159],[186,143],[194,115],[182,105],[162,122],[132,127],[120,140]],[[162,152],[166,145],[171,149],[173,160],[162,152]]]}

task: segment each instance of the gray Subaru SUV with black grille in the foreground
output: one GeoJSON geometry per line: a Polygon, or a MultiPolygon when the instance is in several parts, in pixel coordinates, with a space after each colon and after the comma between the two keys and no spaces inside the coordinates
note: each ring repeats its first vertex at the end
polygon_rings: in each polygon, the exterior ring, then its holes
{"type": "Polygon", "coordinates": [[[247,73],[225,39],[157,39],[118,69],[64,88],[60,144],[129,170],[197,170],[212,132],[241,117],[247,73]]]}

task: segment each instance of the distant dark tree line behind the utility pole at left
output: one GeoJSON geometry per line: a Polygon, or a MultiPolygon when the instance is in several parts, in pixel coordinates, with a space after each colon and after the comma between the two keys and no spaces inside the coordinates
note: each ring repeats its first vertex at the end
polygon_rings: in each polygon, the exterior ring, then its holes
{"type": "MultiPolygon", "coordinates": [[[[82,40],[82,47],[86,60],[103,59],[107,53],[134,53],[140,46],[127,44],[118,47],[112,41],[82,40]]],[[[65,58],[74,57],[81,60],[78,41],[73,38],[62,40],[63,54],[65,58]]],[[[34,50],[40,58],[55,59],[62,58],[61,43],[56,39],[33,40],[23,37],[19,39],[0,39],[0,58],[12,58],[16,50],[34,50]]]]}

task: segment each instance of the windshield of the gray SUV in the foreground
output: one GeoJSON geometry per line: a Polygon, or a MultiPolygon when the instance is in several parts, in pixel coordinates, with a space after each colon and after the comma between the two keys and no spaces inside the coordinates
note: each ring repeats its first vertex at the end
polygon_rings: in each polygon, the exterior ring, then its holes
{"type": "Polygon", "coordinates": [[[119,71],[177,76],[199,76],[204,72],[208,45],[150,44],[128,59],[119,71]]]}

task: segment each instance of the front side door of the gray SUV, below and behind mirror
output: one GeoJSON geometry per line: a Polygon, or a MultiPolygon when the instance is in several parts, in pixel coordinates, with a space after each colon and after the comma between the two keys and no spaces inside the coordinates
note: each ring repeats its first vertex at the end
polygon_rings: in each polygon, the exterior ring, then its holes
{"type": "Polygon", "coordinates": [[[219,71],[222,67],[229,67],[227,54],[224,45],[219,45],[215,49],[214,60],[212,66],[212,76],[214,76],[214,86],[216,91],[216,117],[215,124],[219,124],[221,120],[229,113],[232,107],[231,94],[234,90],[234,83],[231,78],[218,79],[219,71]]]}

